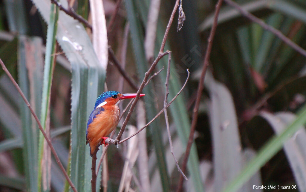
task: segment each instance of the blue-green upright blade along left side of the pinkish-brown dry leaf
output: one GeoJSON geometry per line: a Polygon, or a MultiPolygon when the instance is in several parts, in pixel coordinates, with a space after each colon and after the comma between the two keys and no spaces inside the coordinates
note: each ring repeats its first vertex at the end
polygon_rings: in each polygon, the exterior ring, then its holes
{"type": "MultiPolygon", "coordinates": [[[[30,89],[27,69],[26,38],[20,37],[18,43],[18,82],[24,95],[30,101],[30,89]]],[[[20,99],[20,116],[24,140],[24,169],[28,191],[37,189],[37,140],[36,130],[32,129],[32,117],[28,106],[20,99]]]]}

